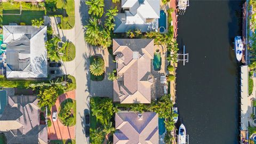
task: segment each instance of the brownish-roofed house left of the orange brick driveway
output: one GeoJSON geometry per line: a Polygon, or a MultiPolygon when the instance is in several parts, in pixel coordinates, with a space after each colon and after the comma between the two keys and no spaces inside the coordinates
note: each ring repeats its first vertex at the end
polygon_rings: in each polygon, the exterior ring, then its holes
{"type": "Polygon", "coordinates": [[[7,144],[46,144],[47,126],[39,124],[37,96],[9,95],[7,102],[0,117],[0,132],[5,133],[7,144]]]}

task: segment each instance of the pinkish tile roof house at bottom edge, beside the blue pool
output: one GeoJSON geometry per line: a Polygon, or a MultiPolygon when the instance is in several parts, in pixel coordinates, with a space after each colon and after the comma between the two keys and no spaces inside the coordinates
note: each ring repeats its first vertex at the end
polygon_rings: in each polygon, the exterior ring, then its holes
{"type": "Polygon", "coordinates": [[[115,122],[114,144],[159,142],[158,114],[154,112],[118,112],[115,114],[115,122]]]}

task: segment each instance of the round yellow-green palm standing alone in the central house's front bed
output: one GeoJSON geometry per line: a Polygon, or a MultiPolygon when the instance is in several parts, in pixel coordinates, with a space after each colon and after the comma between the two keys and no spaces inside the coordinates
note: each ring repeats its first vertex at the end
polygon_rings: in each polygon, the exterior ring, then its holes
{"type": "Polygon", "coordinates": [[[103,59],[96,57],[90,65],[90,71],[94,76],[100,76],[105,71],[105,65],[103,59]]]}

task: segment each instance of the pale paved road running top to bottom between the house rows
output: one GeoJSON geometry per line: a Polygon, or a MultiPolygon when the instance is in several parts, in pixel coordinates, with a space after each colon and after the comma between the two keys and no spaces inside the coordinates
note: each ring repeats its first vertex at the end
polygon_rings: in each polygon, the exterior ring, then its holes
{"type": "Polygon", "coordinates": [[[85,1],[75,0],[75,46],[76,46],[76,143],[87,143],[85,138],[84,110],[89,110],[89,49],[84,42],[84,22],[88,18],[85,1]]]}

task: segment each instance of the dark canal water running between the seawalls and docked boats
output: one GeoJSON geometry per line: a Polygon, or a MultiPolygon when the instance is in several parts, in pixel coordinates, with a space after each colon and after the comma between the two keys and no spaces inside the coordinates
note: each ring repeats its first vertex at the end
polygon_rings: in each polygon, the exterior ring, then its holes
{"type": "Polygon", "coordinates": [[[242,33],[243,2],[189,4],[178,17],[177,41],[189,62],[177,69],[177,127],[185,124],[189,144],[238,143],[239,63],[232,43],[242,33]]]}

